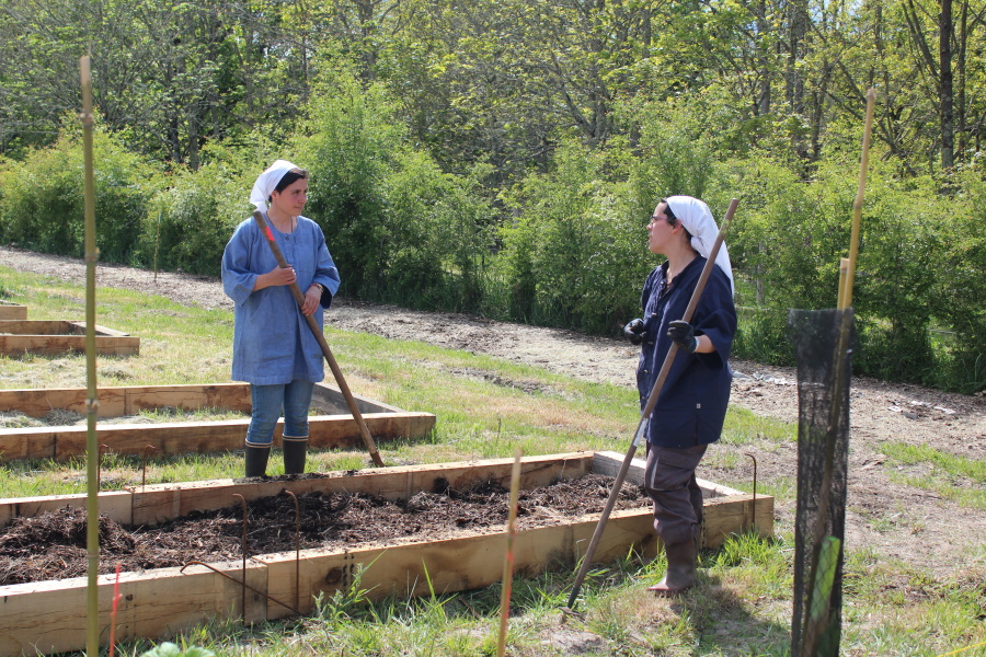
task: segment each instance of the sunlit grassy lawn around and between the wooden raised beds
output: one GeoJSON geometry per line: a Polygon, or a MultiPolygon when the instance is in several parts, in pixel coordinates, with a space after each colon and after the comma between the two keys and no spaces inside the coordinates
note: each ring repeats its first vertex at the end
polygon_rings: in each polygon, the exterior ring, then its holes
{"type": "MultiPolygon", "coordinates": [[[[28,306],[32,320],[83,319],[81,286],[0,267],[0,297],[28,306]]],[[[139,357],[99,359],[100,385],[229,381],[230,312],[186,308],[118,289],[101,289],[99,301],[98,323],[141,338],[139,357]]],[[[512,457],[517,446],[525,454],[580,449],[624,452],[637,426],[637,393],[630,389],[424,343],[332,328],[326,337],[355,392],[438,418],[427,439],[379,445],[388,465],[512,457]]],[[[2,389],[84,385],[82,356],[0,357],[2,389]]],[[[164,414],[159,419],[174,418],[164,414]]],[[[743,446],[783,443],[793,440],[795,433],[791,426],[731,411],[715,457],[718,465],[729,472],[731,462],[743,460],[743,446]]],[[[929,461],[940,480],[962,477],[978,489],[978,496],[966,504],[981,504],[982,464],[903,449],[886,453],[901,461],[929,461]]],[[[309,469],[319,471],[368,464],[366,453],[358,450],[316,452],[309,458],[309,469]]],[[[242,468],[240,453],[152,458],[147,481],[241,476],[242,468]]],[[[277,473],[276,468],[272,473],[277,473]]],[[[0,493],[4,497],[82,493],[84,474],[81,461],[12,462],[0,468],[0,493]]],[[[140,476],[134,459],[106,457],[103,479],[107,486],[139,483],[140,476]]],[[[929,479],[929,485],[935,481],[929,479]]],[[[745,486],[742,481],[720,483],[745,486]]],[[[795,488],[793,473],[759,487],[791,509],[795,488]]],[[[793,549],[790,523],[779,522],[770,541],[735,537],[719,551],[703,553],[700,586],[670,601],[645,591],[661,577],[663,557],[640,563],[628,556],[591,572],[580,603],[584,618],[560,611],[574,573],[515,580],[507,654],[787,655],[793,549]]],[[[986,549],[970,554],[948,580],[930,579],[906,564],[883,560],[874,549],[850,550],[844,574],[842,653],[931,657],[986,642],[984,578],[986,549]]],[[[319,600],[317,612],[308,618],[254,626],[207,624],[175,641],[222,656],[495,655],[498,606],[500,585],[377,602],[368,602],[357,585],[319,600]]],[[[118,646],[116,654],[136,656],[151,645],[130,642],[118,646]]],[[[986,645],[960,654],[986,655],[986,645]]]]}

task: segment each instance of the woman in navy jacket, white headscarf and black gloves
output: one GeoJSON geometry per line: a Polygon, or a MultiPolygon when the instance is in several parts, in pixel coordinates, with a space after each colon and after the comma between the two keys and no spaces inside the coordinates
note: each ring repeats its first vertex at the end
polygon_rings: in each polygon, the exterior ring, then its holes
{"type": "Polygon", "coordinates": [[[730,400],[730,348],[736,332],[732,269],[721,246],[691,323],[681,321],[719,230],[709,207],[690,196],[662,200],[647,224],[651,252],[667,260],[644,284],[643,319],[623,330],[642,345],[637,384],[646,404],[665,356],[677,343],[661,396],[647,423],[644,487],[654,503],[654,528],[665,545],[667,573],[650,587],[676,595],[695,585],[702,493],[695,470],[719,440],[730,400]]]}

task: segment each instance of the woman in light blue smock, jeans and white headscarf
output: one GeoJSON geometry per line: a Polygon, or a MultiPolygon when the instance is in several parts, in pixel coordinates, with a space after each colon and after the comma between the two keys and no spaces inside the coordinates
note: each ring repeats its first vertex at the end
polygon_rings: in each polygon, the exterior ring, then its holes
{"type": "Polygon", "coordinates": [[[250,201],[263,212],[287,267],[279,267],[251,217],[222,254],[222,288],[236,303],[232,379],[250,383],[253,411],[246,430],[246,476],[264,476],[274,428],[284,416],[285,474],[305,472],[308,407],[324,378],[321,347],[302,316],[322,311],[339,289],[339,272],[318,223],[301,216],[308,172],[277,160],[253,185],[250,201]],[[303,290],[300,312],[290,285],[303,290]]]}

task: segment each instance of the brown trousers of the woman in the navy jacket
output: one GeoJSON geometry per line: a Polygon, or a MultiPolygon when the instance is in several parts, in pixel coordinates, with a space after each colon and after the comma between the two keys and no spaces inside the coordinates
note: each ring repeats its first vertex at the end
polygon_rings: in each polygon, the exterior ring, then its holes
{"type": "Polygon", "coordinates": [[[665,545],[693,541],[702,522],[695,469],[709,446],[647,447],[644,489],[654,503],[654,529],[665,545]]]}

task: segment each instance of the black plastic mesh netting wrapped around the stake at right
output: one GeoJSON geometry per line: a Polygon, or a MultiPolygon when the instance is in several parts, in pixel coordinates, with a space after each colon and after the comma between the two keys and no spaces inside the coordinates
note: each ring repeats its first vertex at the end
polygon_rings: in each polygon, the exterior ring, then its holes
{"type": "Polygon", "coordinates": [[[837,656],[849,454],[852,310],[792,310],[798,362],[798,512],[791,655],[837,656]]]}

